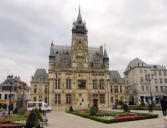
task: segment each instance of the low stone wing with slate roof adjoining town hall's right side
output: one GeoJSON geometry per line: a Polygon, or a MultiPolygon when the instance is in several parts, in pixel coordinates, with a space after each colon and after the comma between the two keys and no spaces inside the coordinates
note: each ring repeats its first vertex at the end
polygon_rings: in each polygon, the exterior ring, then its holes
{"type": "Polygon", "coordinates": [[[110,104],[118,104],[120,100],[125,101],[125,82],[116,70],[110,71],[110,104]]]}

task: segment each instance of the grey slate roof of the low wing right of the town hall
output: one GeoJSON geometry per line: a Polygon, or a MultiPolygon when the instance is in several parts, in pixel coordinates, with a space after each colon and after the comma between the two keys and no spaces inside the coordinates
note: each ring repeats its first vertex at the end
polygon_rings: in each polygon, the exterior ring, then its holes
{"type": "Polygon", "coordinates": [[[110,82],[114,82],[114,79],[117,78],[118,83],[123,83],[124,79],[121,78],[121,75],[119,74],[119,72],[117,70],[111,70],[110,71],[110,82]]]}

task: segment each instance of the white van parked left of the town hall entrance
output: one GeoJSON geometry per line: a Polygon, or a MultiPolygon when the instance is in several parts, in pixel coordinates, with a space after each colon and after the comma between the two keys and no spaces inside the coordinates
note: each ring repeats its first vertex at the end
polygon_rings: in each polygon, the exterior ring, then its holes
{"type": "Polygon", "coordinates": [[[42,101],[29,101],[27,102],[27,110],[32,111],[33,109],[41,109],[42,111],[51,111],[51,108],[42,101]]]}

